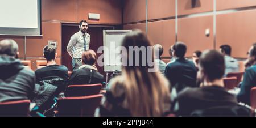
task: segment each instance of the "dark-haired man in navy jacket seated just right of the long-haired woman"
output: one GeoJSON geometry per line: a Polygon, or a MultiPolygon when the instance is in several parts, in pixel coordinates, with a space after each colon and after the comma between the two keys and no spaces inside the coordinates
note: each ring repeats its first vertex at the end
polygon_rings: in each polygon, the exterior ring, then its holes
{"type": "Polygon", "coordinates": [[[176,59],[166,66],[166,78],[178,92],[185,87],[196,87],[196,67],[192,61],[185,58],[187,46],[183,42],[177,42],[173,50],[176,59]]]}

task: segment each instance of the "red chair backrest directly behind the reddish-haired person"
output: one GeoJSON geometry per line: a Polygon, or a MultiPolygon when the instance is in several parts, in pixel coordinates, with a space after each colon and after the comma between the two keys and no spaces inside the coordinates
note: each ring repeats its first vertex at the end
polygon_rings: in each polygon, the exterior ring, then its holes
{"type": "Polygon", "coordinates": [[[89,96],[100,93],[101,84],[87,84],[87,85],[71,85],[65,91],[66,97],[72,96],[89,96]]]}

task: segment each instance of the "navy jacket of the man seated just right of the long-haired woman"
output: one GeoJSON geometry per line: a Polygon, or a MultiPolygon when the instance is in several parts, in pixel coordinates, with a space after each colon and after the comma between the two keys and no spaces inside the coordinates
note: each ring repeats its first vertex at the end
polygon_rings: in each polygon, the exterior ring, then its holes
{"type": "Polygon", "coordinates": [[[164,74],[177,92],[185,87],[196,87],[196,66],[185,58],[177,58],[168,64],[164,74]]]}

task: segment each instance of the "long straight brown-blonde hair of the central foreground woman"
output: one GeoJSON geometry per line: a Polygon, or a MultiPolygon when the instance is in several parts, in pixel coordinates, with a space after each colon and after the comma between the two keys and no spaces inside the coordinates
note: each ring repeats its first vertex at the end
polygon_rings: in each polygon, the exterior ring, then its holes
{"type": "MultiPolygon", "coordinates": [[[[151,44],[144,33],[134,31],[125,37],[123,46],[128,49],[128,46],[151,46],[151,44]]],[[[130,110],[131,116],[163,116],[170,107],[167,79],[160,72],[148,72],[148,68],[149,66],[122,67],[122,75],[112,82],[110,91],[113,91],[113,96],[118,95],[115,91],[117,85],[125,89],[125,106],[130,110]]]]}

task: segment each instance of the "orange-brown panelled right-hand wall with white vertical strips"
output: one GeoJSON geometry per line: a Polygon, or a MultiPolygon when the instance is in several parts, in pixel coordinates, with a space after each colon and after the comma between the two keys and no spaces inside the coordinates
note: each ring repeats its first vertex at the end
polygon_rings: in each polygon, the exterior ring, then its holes
{"type": "Polygon", "coordinates": [[[232,56],[246,58],[256,42],[255,15],[255,0],[126,0],[123,28],[142,29],[152,44],[162,44],[162,58],[169,58],[168,49],[175,41],[188,45],[187,57],[195,50],[229,44],[232,56]]]}

